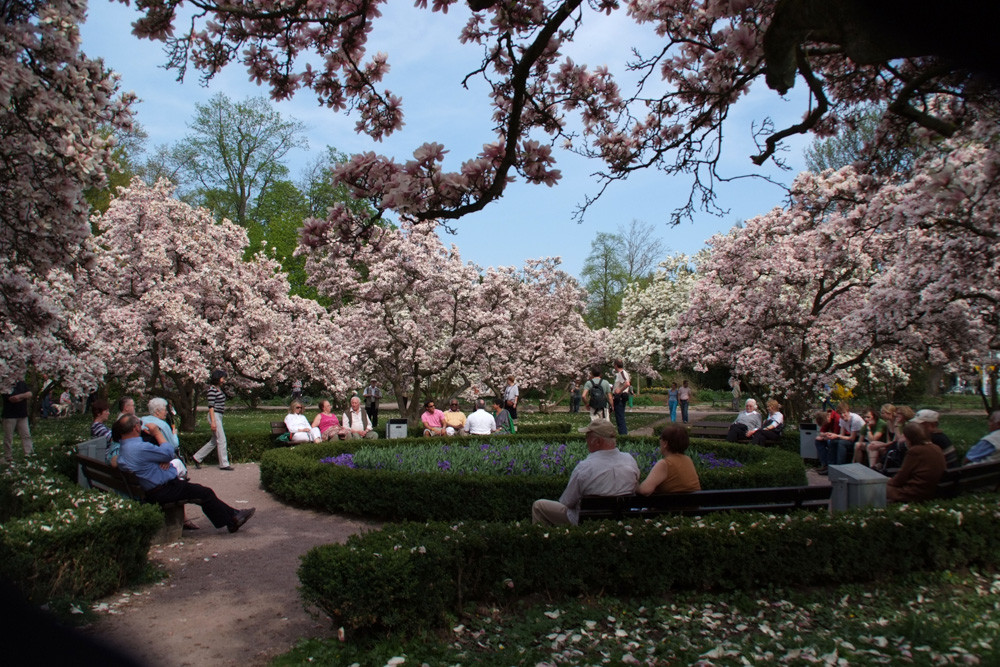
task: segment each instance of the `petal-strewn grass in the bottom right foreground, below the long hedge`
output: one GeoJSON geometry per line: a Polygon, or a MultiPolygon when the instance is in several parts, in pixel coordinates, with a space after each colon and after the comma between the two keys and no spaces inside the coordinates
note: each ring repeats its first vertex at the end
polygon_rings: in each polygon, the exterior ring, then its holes
{"type": "Polygon", "coordinates": [[[997,665],[998,636],[1000,573],[946,571],[868,586],[481,607],[437,635],[309,641],[273,664],[997,665]]]}

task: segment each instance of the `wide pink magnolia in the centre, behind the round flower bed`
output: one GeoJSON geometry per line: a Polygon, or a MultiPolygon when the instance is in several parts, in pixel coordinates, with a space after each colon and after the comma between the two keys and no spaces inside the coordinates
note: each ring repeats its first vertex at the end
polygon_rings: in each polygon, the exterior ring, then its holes
{"type": "MultiPolygon", "coordinates": [[[[351,215],[338,205],[331,218],[351,215]]],[[[345,228],[307,221],[300,252],[318,291],[343,304],[355,368],[384,378],[411,421],[427,399],[497,392],[507,374],[546,388],[595,353],[583,294],[557,261],[482,271],[423,227],[381,228],[360,248],[345,228]]]]}

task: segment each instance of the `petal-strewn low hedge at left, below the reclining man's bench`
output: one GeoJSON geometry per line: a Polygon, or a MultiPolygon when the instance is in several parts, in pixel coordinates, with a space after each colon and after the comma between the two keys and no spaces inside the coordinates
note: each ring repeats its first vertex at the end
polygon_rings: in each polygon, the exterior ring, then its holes
{"type": "Polygon", "coordinates": [[[0,473],[0,578],[40,604],[110,595],[148,569],[163,512],[34,461],[0,473]]]}

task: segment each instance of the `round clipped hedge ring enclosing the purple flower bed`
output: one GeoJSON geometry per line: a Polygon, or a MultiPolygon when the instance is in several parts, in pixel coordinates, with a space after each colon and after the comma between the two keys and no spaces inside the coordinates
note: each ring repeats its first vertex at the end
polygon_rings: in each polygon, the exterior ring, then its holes
{"type": "MultiPolygon", "coordinates": [[[[537,440],[535,436],[492,436],[490,443],[537,440]]],[[[475,438],[447,444],[474,444],[475,438]]],[[[485,440],[484,440],[485,442],[485,440]]],[[[584,437],[568,434],[558,442],[583,446],[584,437]]],[[[427,438],[347,440],[298,445],[265,452],[260,461],[264,488],[283,501],[328,512],[346,512],[398,521],[517,521],[530,516],[538,498],[558,498],[568,475],[454,475],[360,470],[320,463],[325,457],[353,453],[362,446],[397,447],[439,444],[427,438]]],[[[796,486],[806,483],[797,455],[752,445],[695,441],[702,451],[735,458],[743,468],[719,468],[702,475],[706,489],[796,486]]],[[[624,436],[619,447],[655,448],[651,437],[624,436]]]]}

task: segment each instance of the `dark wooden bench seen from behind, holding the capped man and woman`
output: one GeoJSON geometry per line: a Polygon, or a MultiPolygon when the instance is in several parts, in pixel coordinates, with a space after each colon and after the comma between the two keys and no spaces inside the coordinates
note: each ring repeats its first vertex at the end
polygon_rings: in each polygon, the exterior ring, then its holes
{"type": "Polygon", "coordinates": [[[797,509],[826,510],[832,492],[830,486],[782,486],[652,496],[584,496],[580,501],[580,521],[646,518],[659,514],[700,516],[731,511],[787,514],[797,509]]]}

